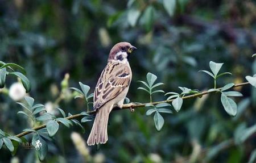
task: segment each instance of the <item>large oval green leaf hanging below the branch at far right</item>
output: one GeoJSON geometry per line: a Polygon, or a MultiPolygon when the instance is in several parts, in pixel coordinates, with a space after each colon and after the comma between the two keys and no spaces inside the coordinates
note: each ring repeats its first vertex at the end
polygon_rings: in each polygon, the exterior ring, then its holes
{"type": "Polygon", "coordinates": [[[221,94],[221,103],[229,115],[235,116],[237,114],[237,104],[233,99],[227,97],[224,93],[221,94]]]}

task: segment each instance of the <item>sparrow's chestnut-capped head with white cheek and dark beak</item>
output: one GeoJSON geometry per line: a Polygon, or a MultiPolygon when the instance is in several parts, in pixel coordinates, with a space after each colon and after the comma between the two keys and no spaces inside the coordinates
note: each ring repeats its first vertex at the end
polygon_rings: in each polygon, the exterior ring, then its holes
{"type": "Polygon", "coordinates": [[[136,47],[127,42],[121,42],[114,45],[109,53],[109,60],[119,60],[125,61],[129,58],[131,52],[133,52],[136,47]]]}

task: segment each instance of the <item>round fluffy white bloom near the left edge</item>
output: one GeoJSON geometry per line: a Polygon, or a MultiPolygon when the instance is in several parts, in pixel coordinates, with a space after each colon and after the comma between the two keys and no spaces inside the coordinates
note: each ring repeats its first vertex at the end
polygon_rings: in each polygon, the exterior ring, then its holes
{"type": "Polygon", "coordinates": [[[9,96],[14,101],[19,101],[20,99],[23,99],[25,95],[26,89],[24,89],[22,83],[15,82],[10,86],[9,96]]]}

